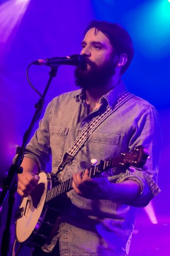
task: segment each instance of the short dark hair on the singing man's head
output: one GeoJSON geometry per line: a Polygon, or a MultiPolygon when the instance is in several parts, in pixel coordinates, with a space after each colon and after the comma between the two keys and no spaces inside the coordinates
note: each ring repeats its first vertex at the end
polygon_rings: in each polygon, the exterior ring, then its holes
{"type": "Polygon", "coordinates": [[[88,27],[86,27],[84,35],[93,27],[108,37],[118,57],[120,57],[121,54],[126,54],[128,56],[128,61],[121,68],[121,73],[124,73],[126,69],[128,69],[133,58],[133,44],[128,32],[121,27],[120,24],[92,20],[88,27]]]}

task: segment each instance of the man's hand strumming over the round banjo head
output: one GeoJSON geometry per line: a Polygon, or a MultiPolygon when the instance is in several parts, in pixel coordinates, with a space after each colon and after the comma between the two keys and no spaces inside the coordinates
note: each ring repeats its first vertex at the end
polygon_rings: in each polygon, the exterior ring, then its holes
{"type": "Polygon", "coordinates": [[[32,172],[23,172],[18,175],[17,193],[21,197],[27,197],[35,189],[39,181],[39,175],[32,172]]]}

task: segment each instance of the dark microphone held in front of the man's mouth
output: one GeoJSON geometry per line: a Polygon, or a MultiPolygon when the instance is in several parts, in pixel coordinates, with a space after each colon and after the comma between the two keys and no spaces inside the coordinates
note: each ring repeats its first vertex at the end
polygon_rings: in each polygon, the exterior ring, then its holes
{"type": "Polygon", "coordinates": [[[53,57],[49,59],[37,59],[37,61],[32,62],[34,65],[46,65],[46,66],[59,66],[59,65],[72,65],[79,66],[85,63],[85,58],[83,55],[74,54],[66,57],[53,57]]]}

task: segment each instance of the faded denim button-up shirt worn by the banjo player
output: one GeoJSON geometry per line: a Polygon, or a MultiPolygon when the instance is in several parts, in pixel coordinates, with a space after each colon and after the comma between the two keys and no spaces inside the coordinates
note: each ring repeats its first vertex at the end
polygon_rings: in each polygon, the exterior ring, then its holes
{"type": "MultiPolygon", "coordinates": [[[[64,153],[85,124],[100,115],[107,105],[112,106],[124,91],[125,86],[121,81],[100,98],[100,108],[90,114],[81,89],[54,98],[27,145],[27,157],[34,159],[39,169],[45,170],[46,162],[52,155],[52,172],[56,173],[64,153]]],[[[160,192],[157,186],[160,138],[157,111],[136,95],[104,120],[73,161],[59,173],[60,181],[70,179],[74,172],[90,168],[91,159],[95,158],[99,163],[101,159],[114,158],[121,152],[129,152],[143,145],[150,154],[147,168],[144,166],[133,171],[114,168],[113,176],[108,177],[112,183],[136,180],[141,193],[129,205],[125,205],[111,200],[89,200],[71,190],[67,193],[70,203],[67,205],[66,202],[59,232],[50,244],[44,246],[44,250],[51,251],[59,238],[62,256],[128,255],[136,209],[146,206],[160,192]]]]}

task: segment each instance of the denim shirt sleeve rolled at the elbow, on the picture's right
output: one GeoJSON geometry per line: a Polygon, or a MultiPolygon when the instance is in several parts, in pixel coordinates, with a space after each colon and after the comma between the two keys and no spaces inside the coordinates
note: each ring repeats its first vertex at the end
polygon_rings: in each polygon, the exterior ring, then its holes
{"type": "Polygon", "coordinates": [[[141,193],[130,204],[135,207],[145,207],[161,191],[157,185],[161,129],[157,111],[153,106],[144,108],[133,123],[129,151],[138,145],[143,145],[149,152],[146,165],[143,168],[134,169],[133,172],[126,170],[126,173],[119,177],[117,183],[128,179],[135,180],[140,185],[141,193]]]}

